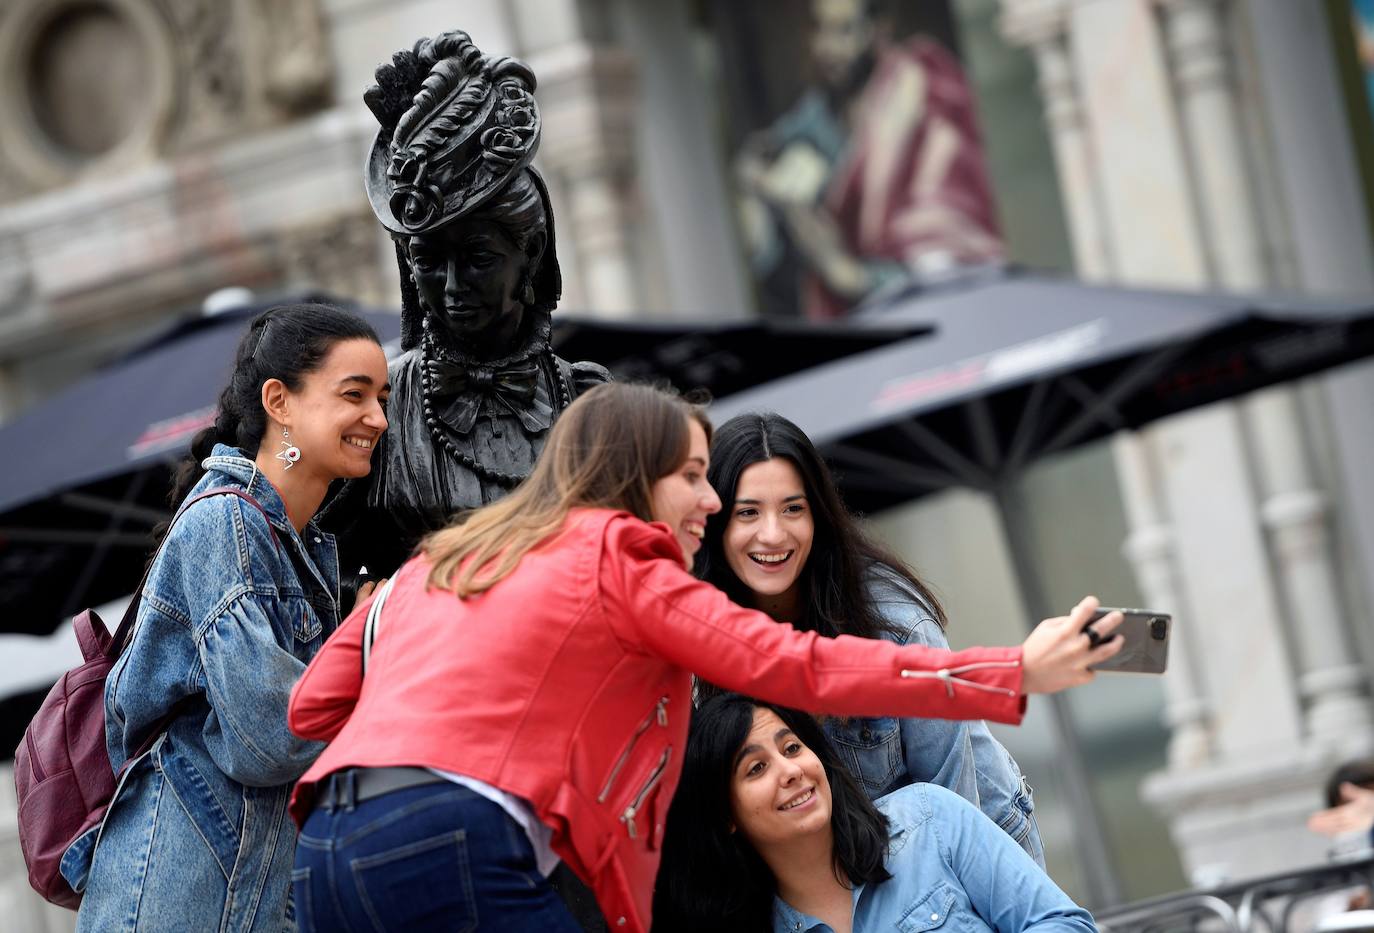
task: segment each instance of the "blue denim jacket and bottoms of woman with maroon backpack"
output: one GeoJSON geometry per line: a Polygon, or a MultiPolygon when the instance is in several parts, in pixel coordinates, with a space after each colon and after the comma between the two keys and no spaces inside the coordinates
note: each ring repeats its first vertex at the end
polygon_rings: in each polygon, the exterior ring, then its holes
{"type": "Polygon", "coordinates": [[[291,687],[338,627],[338,552],[297,535],[282,497],[216,445],[148,574],[133,640],[106,682],[106,743],[118,772],[177,704],[183,712],[122,779],[104,823],[62,874],[84,890],[78,930],[294,929],[289,892],[293,782],[323,743],[286,727],[291,687]],[[275,532],[275,540],[273,535],[275,532]]]}

